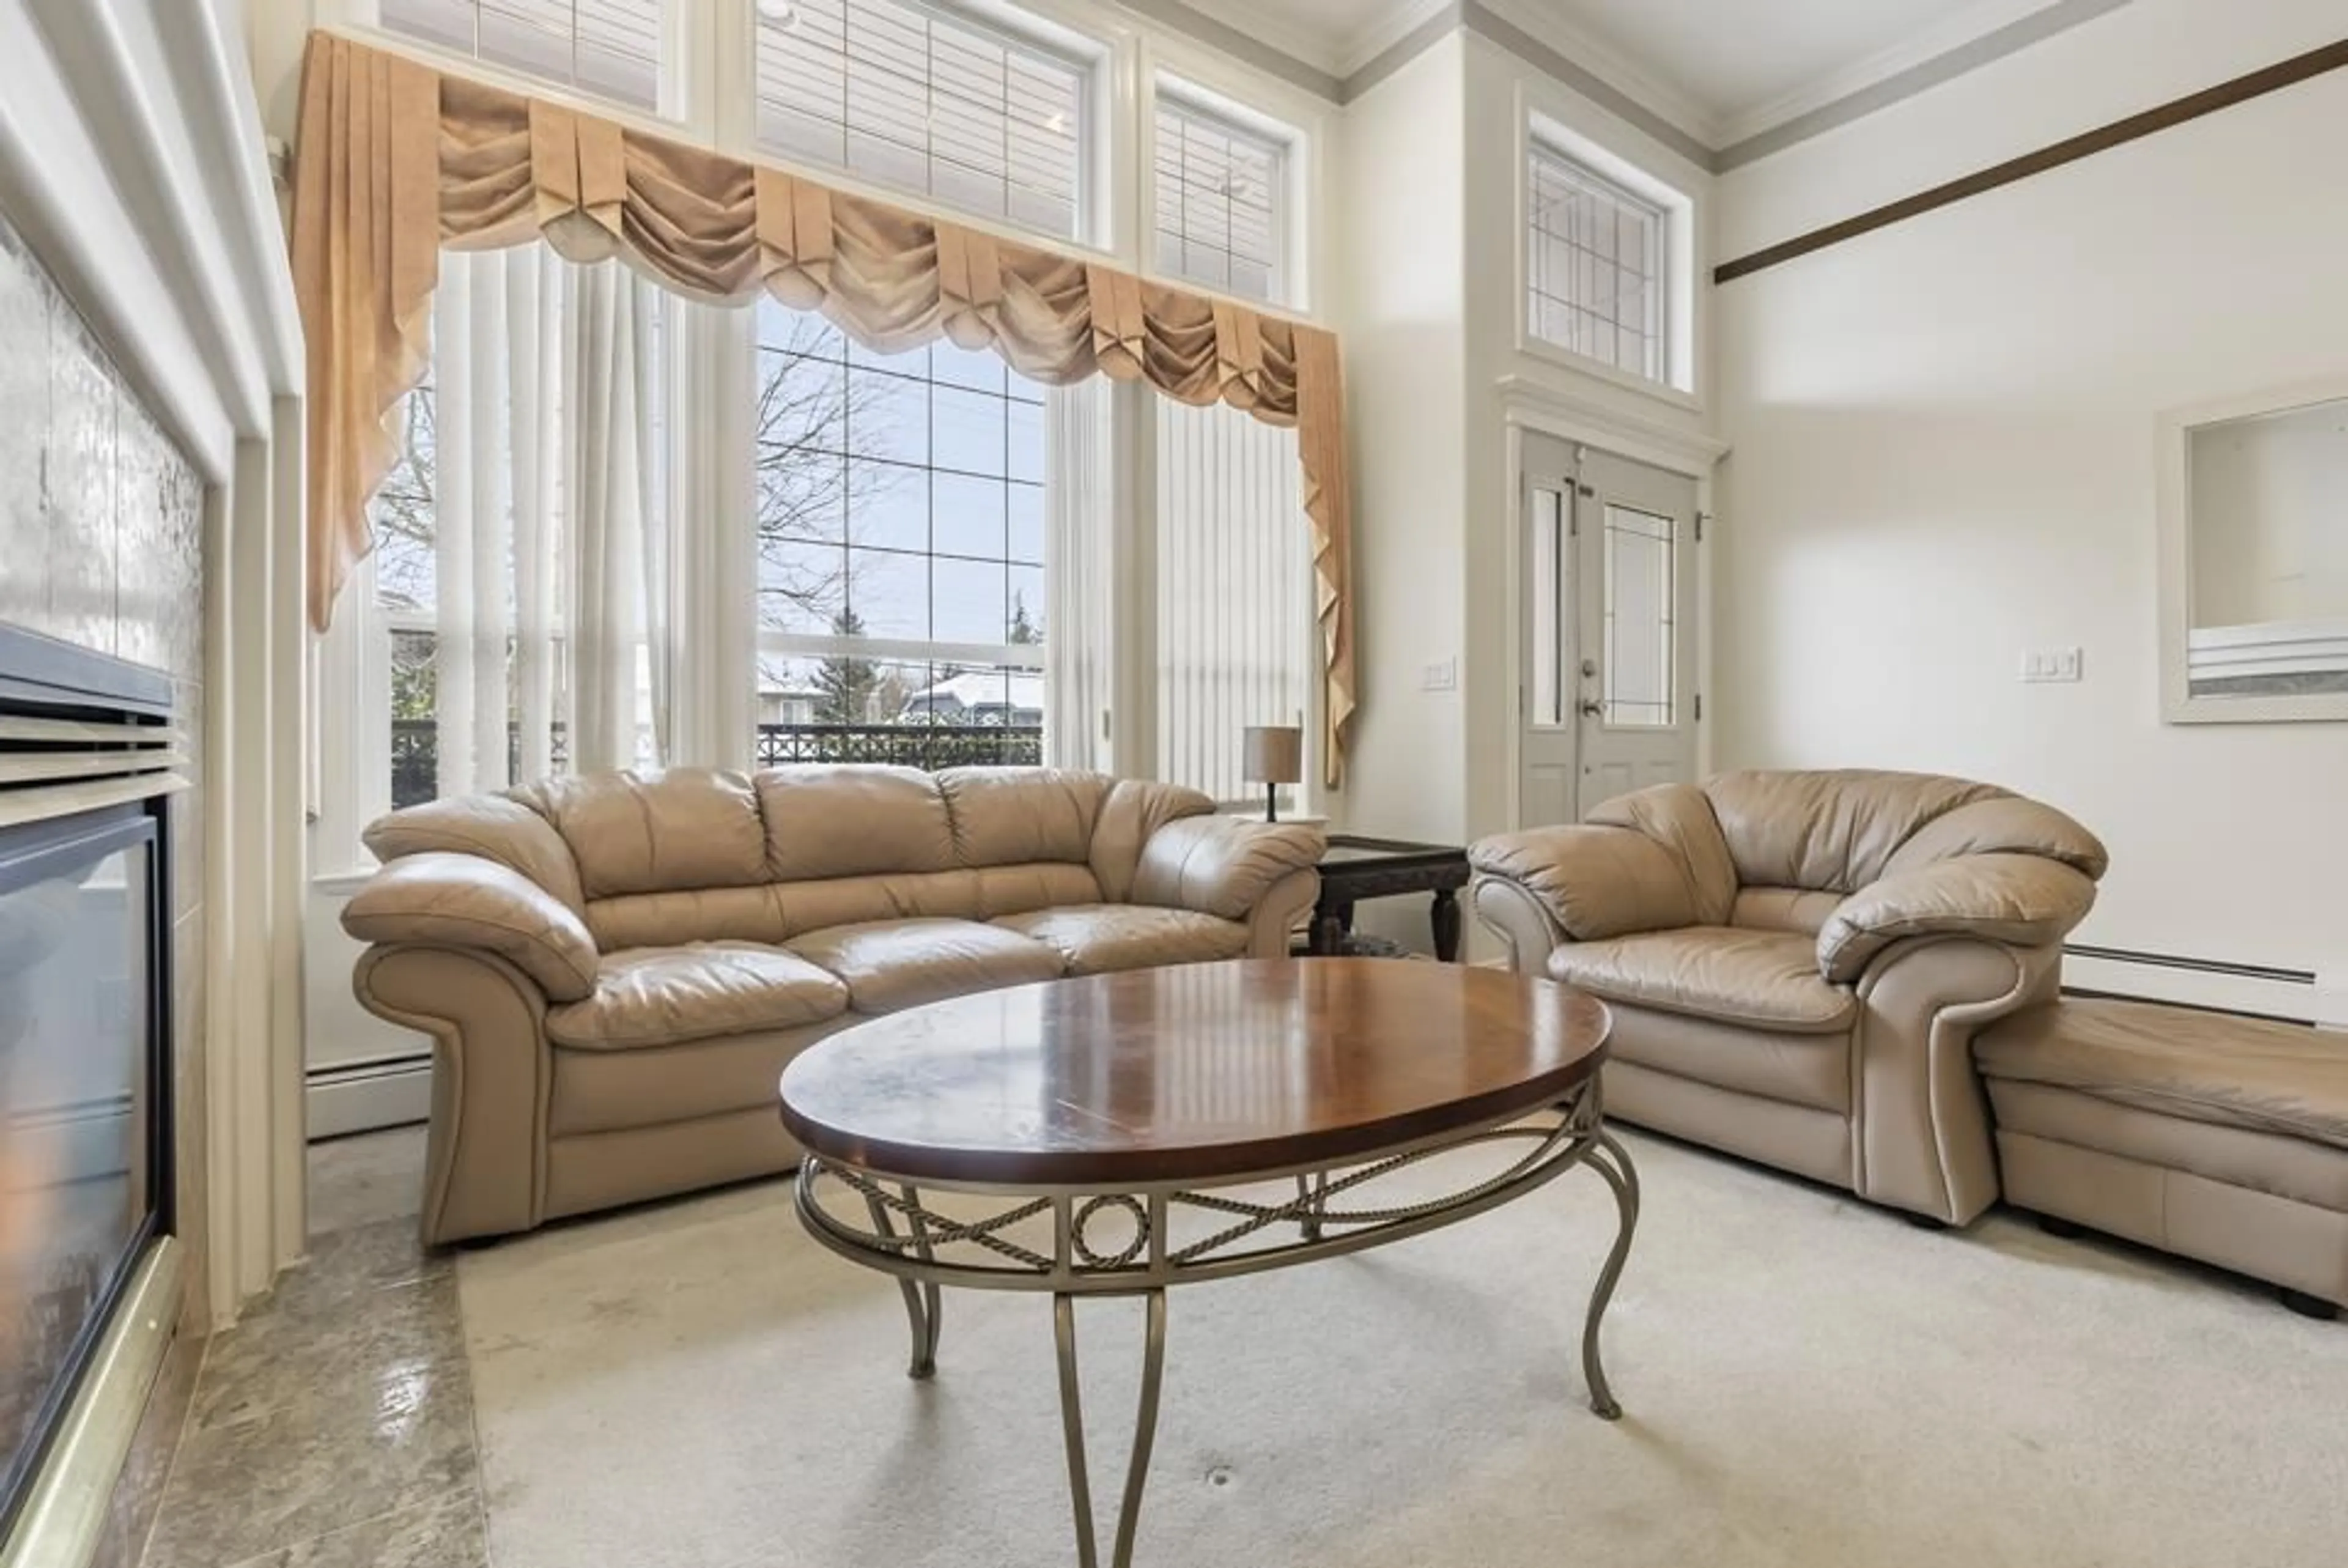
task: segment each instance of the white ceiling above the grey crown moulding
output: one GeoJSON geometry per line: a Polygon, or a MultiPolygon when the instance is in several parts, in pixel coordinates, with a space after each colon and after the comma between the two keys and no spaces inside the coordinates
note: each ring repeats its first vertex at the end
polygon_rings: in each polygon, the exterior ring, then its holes
{"type": "MultiPolygon", "coordinates": [[[[1338,75],[1435,0],[1190,0],[1338,75]]],[[[1648,108],[1712,141],[1855,92],[2059,0],[1484,0],[1648,108]]]]}

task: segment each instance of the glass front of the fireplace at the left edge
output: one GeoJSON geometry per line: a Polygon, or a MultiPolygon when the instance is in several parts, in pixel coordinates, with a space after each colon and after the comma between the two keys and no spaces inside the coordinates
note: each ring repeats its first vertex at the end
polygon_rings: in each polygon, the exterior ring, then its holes
{"type": "Polygon", "coordinates": [[[0,829],[0,1528],[167,1204],[157,817],[0,829]]]}

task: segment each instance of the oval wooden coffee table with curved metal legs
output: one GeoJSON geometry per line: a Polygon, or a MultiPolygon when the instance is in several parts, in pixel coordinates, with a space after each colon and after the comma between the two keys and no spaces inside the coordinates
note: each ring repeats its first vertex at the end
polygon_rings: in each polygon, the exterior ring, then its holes
{"type": "Polygon", "coordinates": [[[1583,1376],[1590,1408],[1620,1415],[1599,1319],[1630,1253],[1639,1178],[1599,1117],[1606,1030],[1599,1002],[1500,969],[1383,958],[1139,969],[848,1028],[784,1070],[782,1122],[808,1148],[801,1221],[902,1282],[916,1378],[937,1366],[939,1286],[1052,1293],[1082,1568],[1097,1568],[1099,1547],[1075,1300],[1146,1300],[1111,1556],[1127,1568],[1167,1286],[1399,1242],[1587,1164],[1613,1188],[1620,1223],[1583,1322],[1583,1376]],[[1496,1145],[1493,1157],[1456,1188],[1381,1204],[1383,1178],[1470,1145],[1496,1145]],[[951,1211],[939,1190],[958,1195],[951,1211]]]}

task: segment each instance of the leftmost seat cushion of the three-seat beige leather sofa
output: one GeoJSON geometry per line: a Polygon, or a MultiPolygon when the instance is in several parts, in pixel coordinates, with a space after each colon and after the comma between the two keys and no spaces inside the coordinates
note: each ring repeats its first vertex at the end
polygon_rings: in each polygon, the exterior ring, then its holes
{"type": "Polygon", "coordinates": [[[625,1052],[711,1035],[822,1023],[848,1012],[848,986],[805,958],[754,941],[606,953],[594,995],[547,1009],[547,1038],[625,1052]]]}

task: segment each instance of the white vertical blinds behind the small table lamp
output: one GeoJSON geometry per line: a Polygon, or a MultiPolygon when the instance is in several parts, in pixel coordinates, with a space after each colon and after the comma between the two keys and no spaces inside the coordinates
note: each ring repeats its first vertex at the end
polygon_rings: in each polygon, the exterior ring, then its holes
{"type": "MultiPolygon", "coordinates": [[[[1158,423],[1158,758],[1153,775],[1261,805],[1247,725],[1313,702],[1313,547],[1296,432],[1151,399],[1158,423]]],[[[1310,758],[1305,775],[1310,777],[1310,758]]]]}

